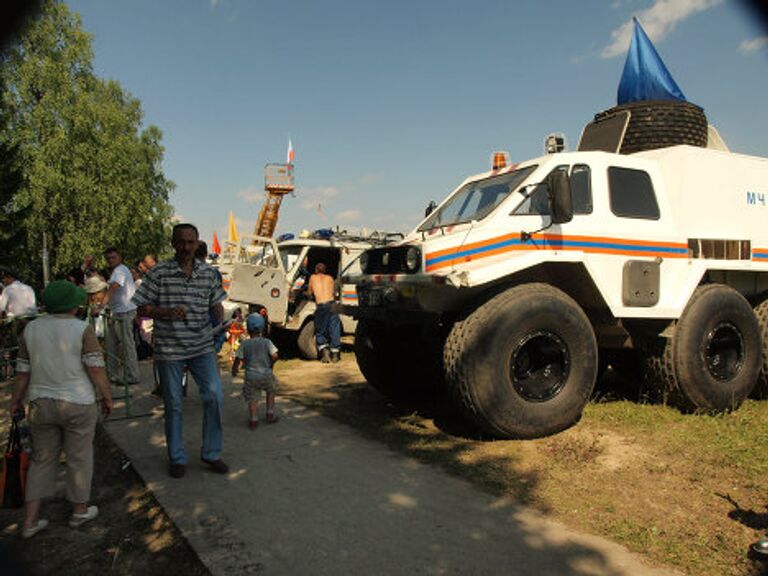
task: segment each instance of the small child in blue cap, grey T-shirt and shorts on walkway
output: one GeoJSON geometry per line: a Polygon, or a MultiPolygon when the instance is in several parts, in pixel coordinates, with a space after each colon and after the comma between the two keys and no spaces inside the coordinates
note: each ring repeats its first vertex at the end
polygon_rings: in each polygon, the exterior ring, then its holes
{"type": "Polygon", "coordinates": [[[264,327],[263,316],[248,316],[246,329],[250,338],[240,344],[232,364],[232,376],[237,376],[241,364],[245,366],[243,398],[248,402],[248,426],[251,430],[259,425],[258,409],[262,390],[267,394],[267,424],[274,424],[278,420],[275,415],[277,378],[272,372],[272,366],[277,361],[277,347],[269,338],[262,337],[264,327]]]}

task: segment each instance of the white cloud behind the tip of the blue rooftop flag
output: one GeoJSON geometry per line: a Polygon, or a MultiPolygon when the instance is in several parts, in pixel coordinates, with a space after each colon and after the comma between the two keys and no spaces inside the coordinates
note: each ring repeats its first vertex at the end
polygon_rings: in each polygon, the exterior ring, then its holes
{"type": "MultiPolygon", "coordinates": [[[[717,6],[723,0],[656,0],[650,8],[637,12],[635,16],[643,30],[653,42],[659,42],[675,29],[678,23],[697,12],[704,12],[717,6]]],[[[624,54],[632,38],[632,20],[625,22],[611,32],[612,42],[603,48],[603,58],[624,54]]]]}

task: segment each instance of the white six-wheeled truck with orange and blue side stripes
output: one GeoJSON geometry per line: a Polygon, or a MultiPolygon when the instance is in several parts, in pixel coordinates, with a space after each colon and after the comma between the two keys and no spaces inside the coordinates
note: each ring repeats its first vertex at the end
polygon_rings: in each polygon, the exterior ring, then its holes
{"type": "Polygon", "coordinates": [[[386,394],[443,382],[478,428],[537,437],[628,350],[682,408],[732,410],[768,372],[768,160],[676,145],[498,167],[361,267],[355,352],[386,394]]]}

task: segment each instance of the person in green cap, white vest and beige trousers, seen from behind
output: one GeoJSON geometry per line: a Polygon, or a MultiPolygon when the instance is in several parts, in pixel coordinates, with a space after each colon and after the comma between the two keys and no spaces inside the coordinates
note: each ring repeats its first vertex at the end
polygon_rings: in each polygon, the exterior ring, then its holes
{"type": "Polygon", "coordinates": [[[26,398],[32,435],[22,538],[48,526],[38,514],[42,499],[55,492],[62,451],[67,455],[66,496],[72,503],[69,525],[77,528],[99,513],[88,505],[99,416],[94,388],[105,417],[112,412],[112,397],[96,333],[75,317],[86,299],[85,290],[70,282],[51,282],[43,292],[48,314],[30,322],[19,341],[10,408],[12,415],[23,414],[26,398]]]}

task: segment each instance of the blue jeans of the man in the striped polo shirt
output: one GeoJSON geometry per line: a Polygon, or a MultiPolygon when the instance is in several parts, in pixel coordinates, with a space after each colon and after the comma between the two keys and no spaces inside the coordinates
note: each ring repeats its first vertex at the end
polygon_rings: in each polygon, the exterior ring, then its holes
{"type": "Polygon", "coordinates": [[[171,464],[186,464],[182,432],[181,370],[187,366],[197,382],[200,400],[203,402],[203,446],[200,457],[218,460],[221,456],[223,430],[221,425],[221,377],[213,352],[183,360],[157,360],[157,372],[163,389],[165,405],[165,441],[171,464]]]}

